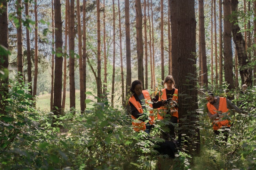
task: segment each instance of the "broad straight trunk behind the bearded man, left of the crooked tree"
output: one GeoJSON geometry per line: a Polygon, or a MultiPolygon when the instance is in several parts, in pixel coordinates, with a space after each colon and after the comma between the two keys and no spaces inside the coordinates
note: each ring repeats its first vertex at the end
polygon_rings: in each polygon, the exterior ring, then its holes
{"type": "MultiPolygon", "coordinates": [[[[223,43],[224,43],[224,77],[228,83],[228,90],[234,89],[234,73],[233,73],[233,58],[232,58],[232,24],[229,21],[231,14],[231,2],[230,0],[223,1],[223,15],[224,15],[224,32],[223,32],[223,43]]],[[[229,97],[233,99],[233,97],[229,97]]]]}

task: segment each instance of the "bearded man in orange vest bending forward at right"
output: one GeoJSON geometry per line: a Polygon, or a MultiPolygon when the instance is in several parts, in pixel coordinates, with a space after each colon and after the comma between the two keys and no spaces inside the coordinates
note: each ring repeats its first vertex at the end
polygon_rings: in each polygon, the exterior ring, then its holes
{"type": "Polygon", "coordinates": [[[224,134],[224,140],[227,142],[228,132],[231,126],[230,120],[227,117],[230,114],[230,109],[233,109],[236,113],[245,112],[240,110],[226,97],[215,97],[212,92],[206,94],[206,100],[208,101],[206,104],[207,114],[210,121],[212,121],[214,133],[219,135],[222,132],[224,134]]]}

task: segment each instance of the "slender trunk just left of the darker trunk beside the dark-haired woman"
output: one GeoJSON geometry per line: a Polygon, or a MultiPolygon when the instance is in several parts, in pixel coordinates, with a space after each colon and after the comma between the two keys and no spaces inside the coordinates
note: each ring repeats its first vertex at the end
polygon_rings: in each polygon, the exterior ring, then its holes
{"type": "Polygon", "coordinates": [[[120,40],[120,62],[121,62],[121,83],[122,83],[122,106],[125,107],[124,99],[124,68],[123,68],[123,53],[122,53],[122,27],[121,27],[121,15],[120,15],[120,2],[118,0],[118,19],[119,19],[119,40],[120,40]]]}

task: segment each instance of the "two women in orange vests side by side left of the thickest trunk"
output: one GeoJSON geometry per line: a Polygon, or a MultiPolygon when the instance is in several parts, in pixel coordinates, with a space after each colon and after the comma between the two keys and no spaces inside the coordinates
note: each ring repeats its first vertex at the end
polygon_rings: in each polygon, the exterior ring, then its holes
{"type": "Polygon", "coordinates": [[[178,123],[178,89],[172,75],[164,79],[166,88],[161,89],[154,97],[147,90],[142,90],[142,82],[132,82],[129,99],[131,108],[132,126],[135,131],[143,130],[150,133],[155,123],[153,109],[158,109],[157,119],[168,119],[167,130],[163,132],[163,138],[175,137],[175,124],[178,123]],[[165,136],[165,137],[164,137],[165,136]]]}

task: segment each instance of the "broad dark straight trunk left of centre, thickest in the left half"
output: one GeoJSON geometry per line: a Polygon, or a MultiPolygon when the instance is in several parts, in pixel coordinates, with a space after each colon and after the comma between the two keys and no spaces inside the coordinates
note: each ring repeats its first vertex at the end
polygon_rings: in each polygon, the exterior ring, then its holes
{"type": "Polygon", "coordinates": [[[62,91],[62,19],[60,0],[54,0],[54,25],[55,25],[55,70],[54,70],[54,99],[53,113],[61,114],[62,91]]]}

